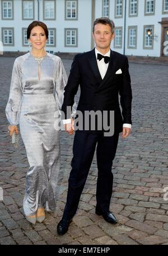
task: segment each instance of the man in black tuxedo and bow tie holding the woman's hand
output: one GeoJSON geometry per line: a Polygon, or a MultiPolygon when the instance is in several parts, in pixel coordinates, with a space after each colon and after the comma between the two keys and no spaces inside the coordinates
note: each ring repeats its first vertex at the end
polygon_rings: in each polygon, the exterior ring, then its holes
{"type": "MultiPolygon", "coordinates": [[[[68,83],[64,92],[62,111],[65,130],[73,134],[74,124],[68,116],[67,106],[73,106],[74,95],[80,85],[81,94],[77,110],[114,111],[114,134],[105,136],[104,130],[77,130],[74,135],[72,170],[68,180],[67,203],[62,220],[58,223],[57,232],[63,235],[77,211],[80,196],[84,188],[88,171],[94,157],[97,156],[97,188],[95,213],[110,223],[117,223],[113,213],[109,211],[113,190],[113,159],[118,144],[119,133],[122,138],[130,134],[132,89],[128,70],[128,59],[122,54],[111,51],[111,40],[114,39],[114,22],[108,18],[99,18],[94,22],[93,34],[96,47],[90,52],[77,54],[74,57],[68,83]],[[119,107],[122,107],[122,114],[119,107]]],[[[85,118],[83,119],[85,122],[85,118]]]]}

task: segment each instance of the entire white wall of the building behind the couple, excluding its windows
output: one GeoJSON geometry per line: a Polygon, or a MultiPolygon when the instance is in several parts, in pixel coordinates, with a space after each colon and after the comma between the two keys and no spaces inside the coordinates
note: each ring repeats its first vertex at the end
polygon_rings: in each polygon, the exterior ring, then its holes
{"type": "MultiPolygon", "coordinates": [[[[0,0],[0,40],[2,40],[1,28],[15,28],[15,45],[4,46],[4,51],[28,51],[29,47],[22,46],[22,28],[27,28],[31,20],[22,20],[22,1],[14,0],[14,20],[2,20],[0,0]]],[[[124,0],[125,2],[125,0],[124,0]]],[[[134,56],[160,56],[161,49],[161,21],[162,17],[168,17],[168,14],[162,15],[162,0],[156,0],[155,15],[144,16],[144,0],[139,0],[138,17],[129,17],[129,0],[127,0],[127,19],[126,19],[126,38],[125,54],[134,56]],[[128,49],[128,26],[138,26],[137,49],[128,49]],[[143,49],[143,26],[154,25],[154,35],[157,38],[153,40],[153,49],[143,49]]],[[[123,6],[124,12],[124,6],[123,6]]],[[[44,20],[48,28],[56,28],[56,47],[47,47],[47,50],[54,52],[86,52],[91,49],[91,30],[92,30],[92,0],[78,0],[78,20],[65,20],[64,0],[56,0],[56,20],[44,20]],[[78,47],[64,47],[64,28],[78,29],[78,47]]],[[[123,27],[124,44],[124,13],[122,19],[115,19],[115,0],[110,0],[110,19],[113,19],[115,26],[123,27]]],[[[102,0],[95,0],[95,18],[102,16],[102,0]]],[[[38,1],[35,0],[35,20],[38,19],[38,1]]],[[[43,0],[40,0],[40,20],[43,21],[43,0]]],[[[122,48],[114,48],[114,51],[123,53],[122,48]]]]}

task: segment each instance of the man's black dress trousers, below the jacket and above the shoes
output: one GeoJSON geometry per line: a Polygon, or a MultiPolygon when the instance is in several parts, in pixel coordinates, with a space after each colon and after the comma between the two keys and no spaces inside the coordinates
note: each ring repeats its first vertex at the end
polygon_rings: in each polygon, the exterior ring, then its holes
{"type": "Polygon", "coordinates": [[[88,172],[94,157],[97,156],[96,208],[108,211],[113,191],[113,173],[111,167],[116,153],[119,134],[104,136],[92,132],[76,131],[73,143],[72,170],[68,180],[67,203],[63,218],[70,220],[77,211],[80,196],[85,186],[88,172]]]}

